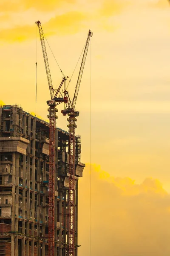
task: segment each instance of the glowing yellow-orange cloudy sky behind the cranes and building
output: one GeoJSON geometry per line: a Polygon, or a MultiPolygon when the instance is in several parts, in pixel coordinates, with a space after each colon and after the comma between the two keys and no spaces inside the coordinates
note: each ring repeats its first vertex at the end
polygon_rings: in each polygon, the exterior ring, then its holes
{"type": "MultiPolygon", "coordinates": [[[[28,112],[37,110],[47,119],[50,93],[37,20],[69,77],[88,30],[94,32],[76,106],[80,111],[77,134],[81,134],[82,162],[89,163],[91,81],[91,163],[97,165],[92,167],[92,255],[103,255],[107,247],[107,255],[169,256],[168,0],[1,0],[0,99],[28,112]],[[107,179],[98,177],[98,165],[107,179]]],[[[48,47],[47,51],[57,87],[62,76],[48,47]]],[[[70,93],[78,72],[68,87],[70,93]]],[[[58,109],[60,112],[62,106],[58,109]]],[[[57,125],[67,130],[61,114],[57,125]]],[[[79,256],[88,255],[89,250],[88,218],[84,221],[89,207],[88,179],[87,167],[79,185],[79,256]]]]}

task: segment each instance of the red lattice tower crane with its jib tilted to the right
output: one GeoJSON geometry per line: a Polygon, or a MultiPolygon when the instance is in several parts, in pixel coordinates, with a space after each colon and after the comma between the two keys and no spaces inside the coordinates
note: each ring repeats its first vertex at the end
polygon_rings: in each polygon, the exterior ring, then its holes
{"type": "Polygon", "coordinates": [[[65,90],[65,96],[68,98],[68,103],[65,109],[62,110],[63,116],[68,114],[68,132],[69,132],[69,244],[68,244],[68,256],[75,256],[75,128],[77,128],[76,121],[79,112],[75,111],[75,106],[77,102],[77,96],[79,93],[79,87],[82,79],[82,73],[85,67],[85,60],[88,53],[88,46],[90,38],[93,32],[89,30],[88,38],[86,40],[85,49],[82,57],[82,63],[79,70],[79,76],[77,79],[76,89],[74,92],[73,100],[71,101],[68,92],[65,90]]]}

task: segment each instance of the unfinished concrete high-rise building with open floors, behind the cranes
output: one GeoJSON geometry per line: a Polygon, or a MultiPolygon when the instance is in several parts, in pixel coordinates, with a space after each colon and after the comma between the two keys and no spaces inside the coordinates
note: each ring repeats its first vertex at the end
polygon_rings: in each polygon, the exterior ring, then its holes
{"type": "MultiPolygon", "coordinates": [[[[68,255],[69,134],[55,133],[54,255],[68,255]]],[[[75,157],[77,256],[80,137],[75,157]]],[[[0,256],[48,255],[49,124],[17,105],[0,107],[0,256]]]]}

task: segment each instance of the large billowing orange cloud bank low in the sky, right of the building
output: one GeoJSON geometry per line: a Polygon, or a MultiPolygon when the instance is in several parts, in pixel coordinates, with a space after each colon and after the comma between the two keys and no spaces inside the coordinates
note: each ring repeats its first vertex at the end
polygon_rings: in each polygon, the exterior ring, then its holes
{"type": "MultiPolygon", "coordinates": [[[[89,251],[89,167],[79,180],[79,256],[89,251]]],[[[91,254],[168,256],[169,202],[159,180],[136,184],[91,165],[91,254]]]]}

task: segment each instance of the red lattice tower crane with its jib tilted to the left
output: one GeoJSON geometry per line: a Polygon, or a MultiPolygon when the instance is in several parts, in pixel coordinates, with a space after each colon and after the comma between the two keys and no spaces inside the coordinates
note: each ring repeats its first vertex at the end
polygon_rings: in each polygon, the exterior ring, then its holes
{"type": "MultiPolygon", "coordinates": [[[[54,256],[54,195],[55,195],[55,130],[56,130],[56,119],[58,112],[56,106],[61,102],[68,102],[67,97],[57,97],[62,84],[65,85],[66,77],[63,76],[61,83],[57,89],[53,88],[51,73],[48,64],[48,57],[45,47],[44,35],[40,21],[36,21],[36,24],[40,33],[40,41],[42,46],[42,53],[45,63],[45,70],[47,74],[48,86],[50,89],[51,100],[47,101],[49,106],[49,207],[48,207],[48,256],[54,256]]],[[[63,74],[63,73],[62,73],[63,74]]],[[[64,74],[63,74],[64,75],[64,74]]]]}

